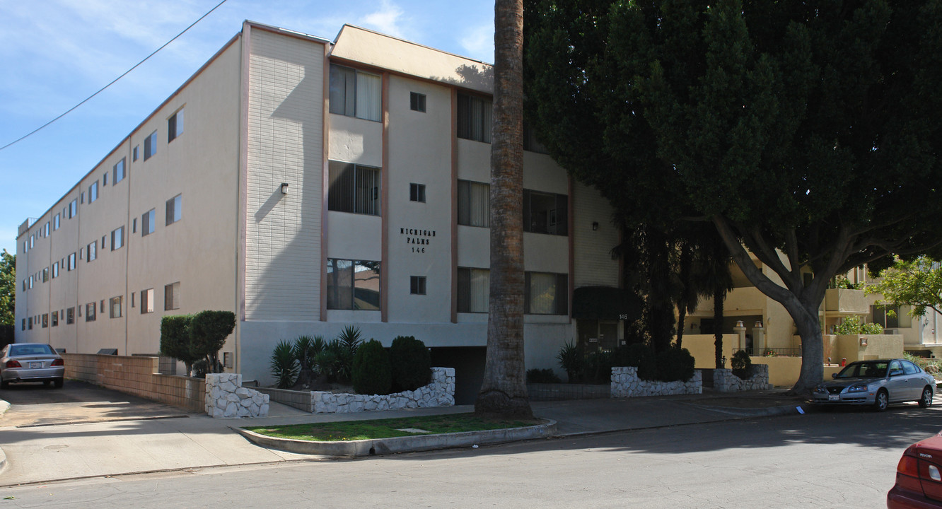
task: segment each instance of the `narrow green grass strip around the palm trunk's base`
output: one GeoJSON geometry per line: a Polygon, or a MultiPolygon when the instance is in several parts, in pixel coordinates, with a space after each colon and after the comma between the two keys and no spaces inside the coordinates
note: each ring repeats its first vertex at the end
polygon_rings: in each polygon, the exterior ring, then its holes
{"type": "Polygon", "coordinates": [[[500,421],[480,419],[474,414],[430,415],[372,421],[317,422],[285,426],[251,426],[245,429],[260,435],[298,440],[347,441],[367,438],[414,437],[463,431],[519,428],[541,424],[542,419],[500,421]],[[403,431],[403,430],[409,431],[403,431]]]}

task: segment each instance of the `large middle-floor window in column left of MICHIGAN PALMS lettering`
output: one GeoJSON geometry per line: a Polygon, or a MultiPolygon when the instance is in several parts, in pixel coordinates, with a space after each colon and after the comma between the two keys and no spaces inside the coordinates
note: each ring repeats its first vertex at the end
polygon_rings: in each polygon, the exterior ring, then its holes
{"type": "Polygon", "coordinates": [[[380,215],[380,169],[331,161],[328,210],[380,215]]]}

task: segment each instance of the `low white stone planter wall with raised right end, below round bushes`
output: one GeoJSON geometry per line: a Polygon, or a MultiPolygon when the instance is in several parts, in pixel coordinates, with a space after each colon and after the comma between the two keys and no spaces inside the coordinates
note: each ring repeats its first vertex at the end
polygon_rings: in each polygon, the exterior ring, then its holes
{"type": "Polygon", "coordinates": [[[378,394],[334,394],[333,392],[312,390],[311,402],[315,413],[318,414],[454,406],[455,369],[431,368],[431,383],[416,390],[395,392],[384,396],[378,394]]]}

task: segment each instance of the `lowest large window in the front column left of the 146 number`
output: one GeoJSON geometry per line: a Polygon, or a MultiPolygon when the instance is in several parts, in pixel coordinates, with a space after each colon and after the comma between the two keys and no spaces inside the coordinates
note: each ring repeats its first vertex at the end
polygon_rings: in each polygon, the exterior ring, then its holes
{"type": "Polygon", "coordinates": [[[380,262],[327,259],[328,310],[379,310],[380,262]]]}

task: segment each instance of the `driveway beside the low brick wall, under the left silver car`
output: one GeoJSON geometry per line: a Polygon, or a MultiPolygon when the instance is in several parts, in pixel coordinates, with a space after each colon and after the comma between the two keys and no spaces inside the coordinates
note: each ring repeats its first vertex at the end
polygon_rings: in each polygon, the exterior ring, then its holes
{"type": "Polygon", "coordinates": [[[11,384],[0,390],[10,404],[0,427],[48,426],[81,422],[132,421],[184,417],[187,410],[163,405],[85,382],[66,380],[62,389],[41,383],[11,384]]]}

